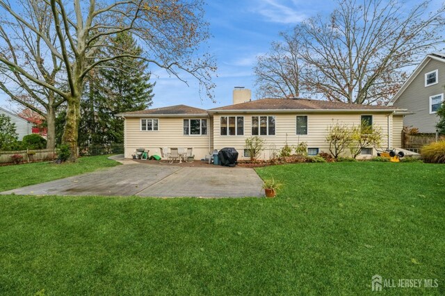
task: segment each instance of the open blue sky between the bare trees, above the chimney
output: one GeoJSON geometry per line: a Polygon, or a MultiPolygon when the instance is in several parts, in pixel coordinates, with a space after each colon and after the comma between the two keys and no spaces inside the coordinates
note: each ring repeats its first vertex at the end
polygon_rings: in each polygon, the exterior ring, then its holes
{"type": "MultiPolygon", "coordinates": [[[[410,3],[419,0],[405,1],[410,3]]],[[[439,8],[442,0],[433,0],[431,8],[439,8]]],[[[196,81],[189,85],[168,77],[162,69],[152,69],[154,88],[153,107],[186,104],[198,108],[215,108],[232,103],[234,86],[252,89],[255,97],[253,70],[255,57],[268,51],[278,33],[291,29],[306,17],[332,12],[336,1],[319,0],[209,0],[205,6],[206,19],[213,38],[210,52],[216,57],[218,77],[215,100],[200,97],[196,81]]],[[[0,93],[0,106],[11,108],[7,97],[0,93]]],[[[15,108],[13,108],[15,109],[15,108]]]]}

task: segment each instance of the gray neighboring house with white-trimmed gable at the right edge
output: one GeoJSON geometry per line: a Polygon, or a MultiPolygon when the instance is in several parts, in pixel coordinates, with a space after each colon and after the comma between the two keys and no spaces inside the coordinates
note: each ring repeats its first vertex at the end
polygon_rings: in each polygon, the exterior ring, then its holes
{"type": "Polygon", "coordinates": [[[444,101],[445,54],[428,54],[402,85],[388,106],[404,108],[412,114],[403,118],[404,126],[421,133],[435,133],[439,117],[436,110],[444,101]]]}

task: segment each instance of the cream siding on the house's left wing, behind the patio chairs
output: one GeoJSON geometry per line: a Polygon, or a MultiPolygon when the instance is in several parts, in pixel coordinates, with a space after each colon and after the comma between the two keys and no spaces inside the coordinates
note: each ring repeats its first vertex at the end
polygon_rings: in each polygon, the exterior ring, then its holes
{"type": "Polygon", "coordinates": [[[208,117],[127,117],[124,126],[125,158],[137,148],[149,149],[149,155],[161,156],[161,147],[192,147],[195,159],[209,153],[210,119],[208,117]],[[140,119],[159,119],[159,131],[140,131],[140,119]],[[184,119],[207,119],[207,135],[184,135],[184,119]]]}

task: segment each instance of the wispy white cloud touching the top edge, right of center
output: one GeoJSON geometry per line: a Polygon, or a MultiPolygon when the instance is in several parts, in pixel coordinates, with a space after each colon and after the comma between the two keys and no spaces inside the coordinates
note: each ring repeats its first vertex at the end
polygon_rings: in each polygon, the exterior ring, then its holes
{"type": "Polygon", "coordinates": [[[259,0],[259,6],[254,12],[266,17],[269,22],[282,24],[297,24],[307,18],[305,13],[297,9],[298,1],[283,3],[280,0],[259,0]]]}

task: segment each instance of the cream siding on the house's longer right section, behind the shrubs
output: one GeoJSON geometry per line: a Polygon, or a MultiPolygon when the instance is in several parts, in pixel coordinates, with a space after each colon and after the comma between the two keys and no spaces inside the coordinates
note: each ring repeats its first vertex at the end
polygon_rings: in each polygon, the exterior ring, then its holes
{"type": "MultiPolygon", "coordinates": [[[[275,135],[260,135],[265,140],[264,151],[260,158],[270,158],[270,155],[279,153],[280,149],[286,144],[298,145],[300,142],[307,142],[309,148],[318,148],[320,151],[329,152],[329,145],[325,141],[328,126],[339,122],[339,124],[360,124],[360,115],[373,115],[373,124],[382,127],[383,139],[382,148],[387,148],[388,131],[391,131],[391,113],[267,113],[250,114],[227,113],[214,115],[213,127],[213,146],[215,149],[224,147],[234,147],[239,153],[239,159],[244,158],[245,139],[252,136],[252,116],[275,115],[275,135]],[[296,135],[296,116],[307,115],[307,135],[296,135]],[[388,129],[389,115],[389,129],[388,129]],[[244,135],[220,135],[220,117],[221,116],[244,116],[244,135]]],[[[394,133],[394,129],[393,129],[394,133]]],[[[389,133],[391,137],[391,132],[389,133]]],[[[373,149],[373,155],[376,155],[373,149]]],[[[345,156],[349,155],[346,151],[345,156]]]]}

